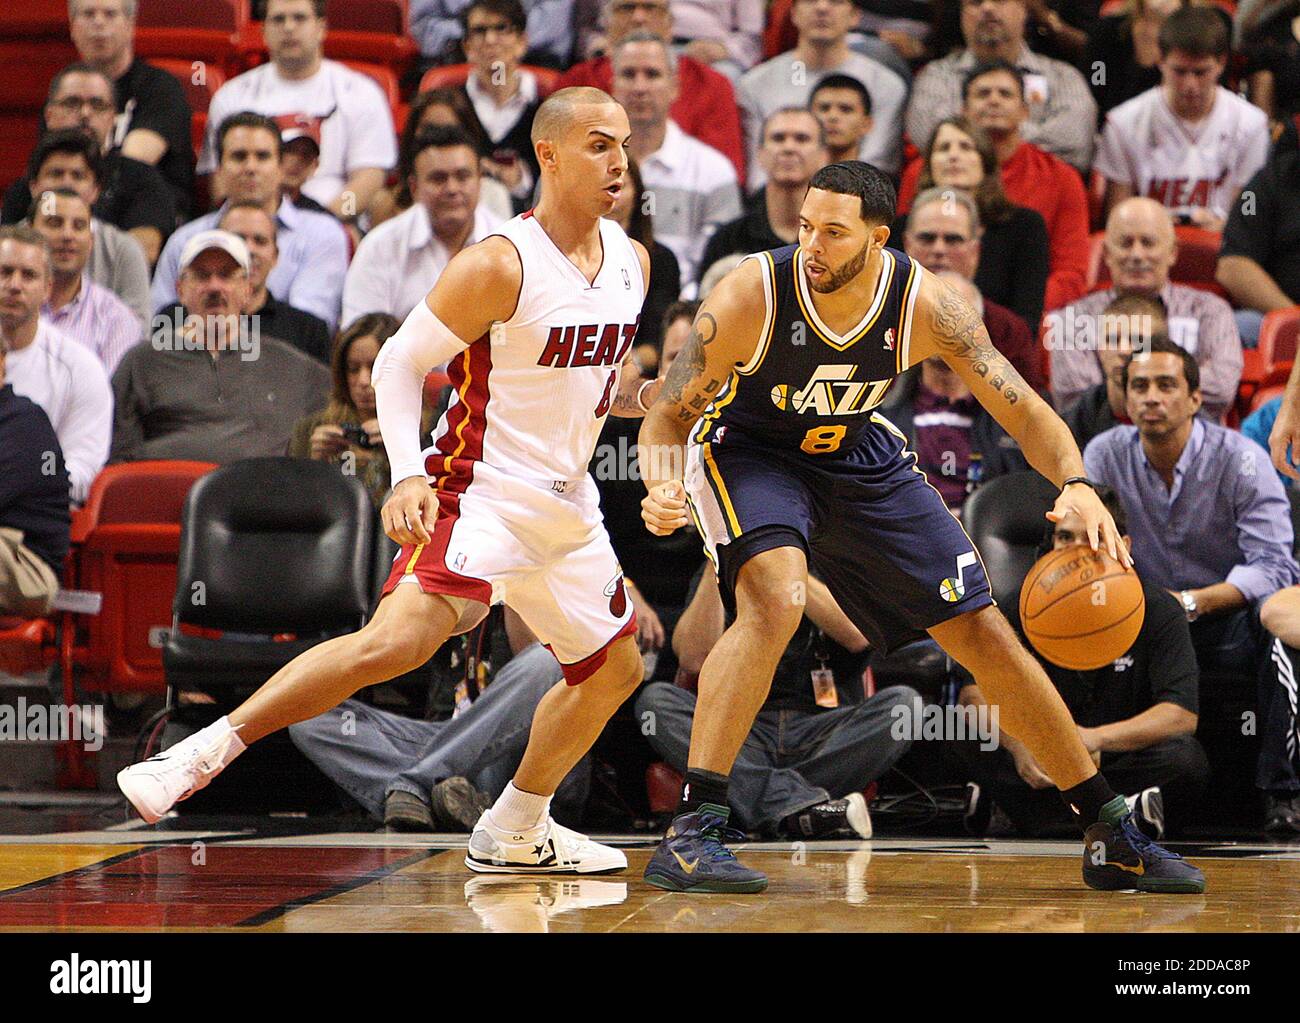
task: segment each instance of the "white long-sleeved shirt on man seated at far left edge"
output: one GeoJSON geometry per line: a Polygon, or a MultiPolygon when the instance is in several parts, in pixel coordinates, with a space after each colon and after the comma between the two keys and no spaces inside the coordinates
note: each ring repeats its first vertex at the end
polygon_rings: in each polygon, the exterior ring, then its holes
{"type": "Polygon", "coordinates": [[[49,417],[72,482],[72,499],[86,500],[108,461],[113,441],[113,391],[99,357],[44,320],[26,348],[5,356],[5,380],[49,417]]]}

